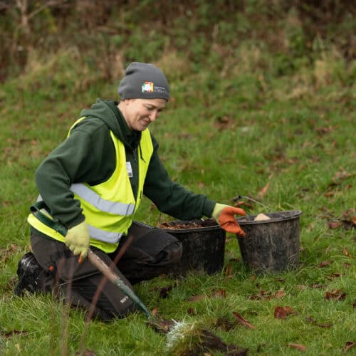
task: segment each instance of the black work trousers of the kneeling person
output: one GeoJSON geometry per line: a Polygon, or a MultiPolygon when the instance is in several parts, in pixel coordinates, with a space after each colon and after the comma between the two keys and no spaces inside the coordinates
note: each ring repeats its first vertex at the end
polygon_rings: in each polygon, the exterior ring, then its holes
{"type": "MultiPolygon", "coordinates": [[[[162,273],[171,273],[182,257],[182,244],[162,229],[133,222],[127,236],[122,236],[113,253],[93,247],[92,250],[108,266],[112,266],[112,271],[131,289],[135,283],[150,280],[162,273]],[[127,239],[130,239],[128,245],[127,239]],[[115,256],[121,253],[123,246],[127,247],[125,252],[120,261],[113,265],[115,256]]],[[[88,258],[79,263],[78,256],[74,256],[65,244],[32,232],[31,247],[38,264],[43,268],[43,291],[55,290],[66,303],[91,308],[93,316],[103,320],[122,318],[137,309],[137,305],[113,283],[106,281],[103,285],[103,274],[88,258]]]]}

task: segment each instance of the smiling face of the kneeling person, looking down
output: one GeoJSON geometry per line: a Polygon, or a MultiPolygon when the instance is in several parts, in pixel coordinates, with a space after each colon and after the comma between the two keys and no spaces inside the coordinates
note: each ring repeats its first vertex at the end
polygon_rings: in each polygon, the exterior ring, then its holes
{"type": "Polygon", "coordinates": [[[164,99],[126,99],[118,108],[130,130],[143,131],[154,122],[166,106],[164,99]]]}

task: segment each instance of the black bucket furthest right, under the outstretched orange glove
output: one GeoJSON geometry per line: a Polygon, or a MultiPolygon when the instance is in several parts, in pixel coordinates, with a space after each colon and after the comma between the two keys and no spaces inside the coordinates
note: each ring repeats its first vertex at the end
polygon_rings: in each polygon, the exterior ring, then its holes
{"type": "Polygon", "coordinates": [[[246,233],[237,236],[244,263],[257,272],[279,272],[299,264],[300,210],[266,213],[268,220],[254,221],[256,215],[237,221],[246,233]]]}

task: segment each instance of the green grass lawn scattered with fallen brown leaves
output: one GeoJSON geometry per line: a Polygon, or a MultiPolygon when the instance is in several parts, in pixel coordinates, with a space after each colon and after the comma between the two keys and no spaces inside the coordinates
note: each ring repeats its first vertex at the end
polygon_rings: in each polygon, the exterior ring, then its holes
{"type": "MultiPolygon", "coordinates": [[[[241,194],[274,210],[303,211],[297,269],[250,271],[236,236],[227,234],[221,273],[162,276],[135,286],[149,310],[176,320],[168,335],[143,313],[86,324],[83,311],[51,295],[15,297],[17,262],[29,250],[26,216],[37,195],[36,167],[82,108],[96,97],[116,98],[116,83],[75,88],[70,70],[59,58],[54,77],[39,68],[0,87],[1,355],[193,355],[201,330],[248,355],[355,354],[355,87],[313,70],[288,78],[201,70],[172,81],[172,100],[151,126],[167,170],[187,189],[224,204],[241,194]],[[276,310],[285,318],[276,318],[276,310]]],[[[248,214],[268,212],[243,207],[248,214]]],[[[174,218],[144,200],[137,219],[157,225],[174,218]]]]}

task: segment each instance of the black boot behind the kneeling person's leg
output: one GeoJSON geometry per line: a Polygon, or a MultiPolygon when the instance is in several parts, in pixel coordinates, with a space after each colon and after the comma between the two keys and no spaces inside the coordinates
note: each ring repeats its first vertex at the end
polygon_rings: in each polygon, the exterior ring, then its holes
{"type": "Polygon", "coordinates": [[[14,288],[15,295],[23,295],[25,290],[29,293],[39,293],[43,291],[40,273],[42,268],[38,265],[32,252],[25,253],[17,265],[17,276],[19,282],[14,288]]]}

